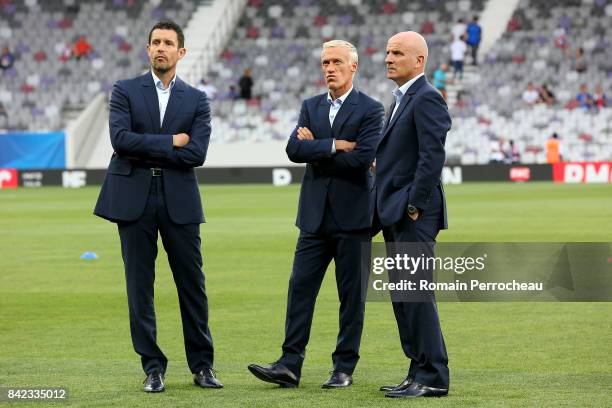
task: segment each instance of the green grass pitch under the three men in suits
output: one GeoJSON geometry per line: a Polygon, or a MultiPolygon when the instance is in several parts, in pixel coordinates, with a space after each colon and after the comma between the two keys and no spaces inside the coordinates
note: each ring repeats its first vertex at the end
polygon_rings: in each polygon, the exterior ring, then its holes
{"type": "MultiPolygon", "coordinates": [[[[167,391],[142,392],[119,237],[91,213],[96,187],[0,191],[0,386],[68,387],[61,406],[84,407],[612,406],[612,303],[440,303],[450,395],[420,401],[386,400],[378,391],[401,380],[408,361],[391,306],[368,303],[354,386],[322,390],[338,326],[333,266],[317,301],[300,387],[259,382],[246,367],[280,355],[298,186],[201,191],[223,390],[192,383],[162,250],[155,302],[158,340],[170,360],[167,391]],[[100,258],[82,261],[85,251],[100,258]]],[[[612,241],[612,185],[482,183],[446,191],[450,229],[440,241],[612,241]]]]}

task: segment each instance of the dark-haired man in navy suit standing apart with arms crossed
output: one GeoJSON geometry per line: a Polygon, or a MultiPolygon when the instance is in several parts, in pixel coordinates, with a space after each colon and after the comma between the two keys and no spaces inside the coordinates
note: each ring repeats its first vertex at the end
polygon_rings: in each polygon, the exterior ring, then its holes
{"type": "Polygon", "coordinates": [[[117,223],[125,265],[130,331],[147,374],[146,392],[164,391],[168,360],[157,345],[153,282],[157,234],[176,284],[183,336],[194,382],[221,388],[208,329],[195,167],[206,158],[210,107],[206,95],[176,76],[184,35],[172,21],[149,33],[151,71],[118,81],[110,100],[111,158],[94,213],[117,223]]]}

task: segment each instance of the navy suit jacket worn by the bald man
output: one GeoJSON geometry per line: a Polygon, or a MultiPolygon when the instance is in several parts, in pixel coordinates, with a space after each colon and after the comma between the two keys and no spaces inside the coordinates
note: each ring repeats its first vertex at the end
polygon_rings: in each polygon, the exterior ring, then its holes
{"type": "Polygon", "coordinates": [[[407,216],[408,203],[426,213],[431,209],[434,189],[440,189],[439,228],[448,227],[440,177],[450,127],[442,95],[425,76],[417,79],[386,124],[376,151],[376,210],[383,226],[407,216]]]}

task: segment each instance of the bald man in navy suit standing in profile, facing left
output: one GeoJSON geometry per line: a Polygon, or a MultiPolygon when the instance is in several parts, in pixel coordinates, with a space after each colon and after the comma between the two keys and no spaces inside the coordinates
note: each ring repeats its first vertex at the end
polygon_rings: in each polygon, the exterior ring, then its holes
{"type": "MultiPolygon", "coordinates": [[[[447,228],[440,176],[451,119],[442,95],[424,76],[427,53],[416,32],[396,34],[387,43],[387,77],[397,88],[376,151],[374,224],[388,244],[418,243],[432,256],[438,232],[447,228]]],[[[448,357],[433,294],[395,299],[400,341],[411,363],[403,382],[381,390],[387,397],[447,395],[448,357]]]]}

